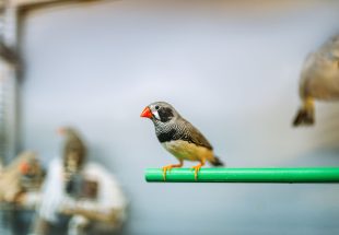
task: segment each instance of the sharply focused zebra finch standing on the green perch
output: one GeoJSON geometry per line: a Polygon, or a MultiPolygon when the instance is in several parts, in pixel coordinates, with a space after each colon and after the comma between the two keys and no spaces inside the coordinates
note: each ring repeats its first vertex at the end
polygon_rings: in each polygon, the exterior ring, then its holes
{"type": "Polygon", "coordinates": [[[196,179],[206,161],[214,166],[223,165],[214,155],[213,148],[202,133],[185,120],[170,104],[152,103],[144,108],[141,117],[150,118],[153,121],[159,141],[179,161],[179,164],[163,167],[164,179],[166,179],[166,172],[173,167],[182,167],[184,160],[200,162],[192,167],[196,179]]]}

